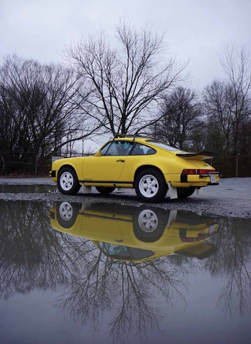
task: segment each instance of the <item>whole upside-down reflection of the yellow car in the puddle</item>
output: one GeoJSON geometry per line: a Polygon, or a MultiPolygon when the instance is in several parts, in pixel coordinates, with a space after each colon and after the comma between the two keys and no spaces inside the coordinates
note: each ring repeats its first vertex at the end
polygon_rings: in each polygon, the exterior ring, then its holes
{"type": "Polygon", "coordinates": [[[170,254],[203,259],[215,252],[204,242],[218,231],[209,216],[147,206],[62,202],[51,209],[50,218],[54,229],[92,240],[106,256],[122,261],[170,254]]]}

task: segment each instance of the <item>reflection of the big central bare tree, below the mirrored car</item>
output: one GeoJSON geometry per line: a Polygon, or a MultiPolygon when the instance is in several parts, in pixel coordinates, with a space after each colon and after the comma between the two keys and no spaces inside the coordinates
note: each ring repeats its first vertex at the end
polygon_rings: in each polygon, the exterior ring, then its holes
{"type": "Polygon", "coordinates": [[[101,252],[84,278],[73,280],[57,299],[57,307],[97,330],[105,311],[113,312],[110,335],[146,336],[158,329],[163,299],[173,306],[189,283],[189,269],[171,266],[167,257],[145,263],[117,262],[101,252]]]}

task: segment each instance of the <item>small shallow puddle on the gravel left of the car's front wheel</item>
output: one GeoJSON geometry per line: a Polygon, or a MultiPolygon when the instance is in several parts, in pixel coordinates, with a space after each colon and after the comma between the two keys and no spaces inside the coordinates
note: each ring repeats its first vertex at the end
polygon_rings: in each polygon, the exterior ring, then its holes
{"type": "Polygon", "coordinates": [[[11,193],[11,194],[18,194],[18,193],[29,193],[29,194],[48,194],[52,192],[58,192],[57,185],[41,185],[41,184],[34,184],[34,185],[8,185],[8,184],[0,184],[0,193],[11,193]]]}

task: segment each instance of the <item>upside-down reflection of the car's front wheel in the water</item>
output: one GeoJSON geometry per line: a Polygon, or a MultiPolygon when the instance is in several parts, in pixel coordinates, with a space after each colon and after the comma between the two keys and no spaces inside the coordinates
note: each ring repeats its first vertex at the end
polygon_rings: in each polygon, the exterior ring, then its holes
{"type": "Polygon", "coordinates": [[[65,229],[71,228],[77,219],[81,205],[76,203],[61,202],[57,204],[57,221],[65,229]]]}

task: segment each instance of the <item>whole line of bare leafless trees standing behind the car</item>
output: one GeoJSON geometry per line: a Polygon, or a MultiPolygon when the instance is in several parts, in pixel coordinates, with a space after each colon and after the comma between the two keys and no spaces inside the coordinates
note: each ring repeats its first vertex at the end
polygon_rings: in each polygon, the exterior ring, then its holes
{"type": "Polygon", "coordinates": [[[222,159],[213,166],[225,177],[235,176],[234,157],[240,156],[238,175],[251,176],[251,61],[245,49],[228,48],[220,59],[225,78],[193,89],[188,63],[172,56],[152,27],[120,20],[116,40],[114,48],[101,30],[73,42],[65,63],[4,59],[0,173],[29,171],[35,157],[46,173],[52,155],[84,153],[87,138],[116,132],[216,151],[222,159]]]}

